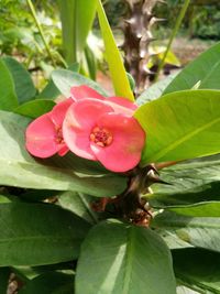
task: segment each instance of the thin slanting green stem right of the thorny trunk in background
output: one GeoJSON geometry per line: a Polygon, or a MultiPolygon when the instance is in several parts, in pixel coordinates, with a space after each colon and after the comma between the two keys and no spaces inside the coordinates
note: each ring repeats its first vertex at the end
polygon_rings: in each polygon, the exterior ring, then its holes
{"type": "Polygon", "coordinates": [[[160,63],[160,65],[158,65],[158,69],[157,69],[157,73],[156,73],[156,76],[155,76],[154,81],[157,81],[158,76],[160,76],[160,73],[161,73],[161,70],[162,70],[163,67],[164,67],[166,56],[167,56],[167,54],[168,54],[168,52],[169,52],[169,50],[170,50],[172,43],[173,43],[173,41],[174,41],[174,37],[175,37],[175,35],[177,34],[177,32],[178,32],[178,30],[179,30],[179,26],[180,26],[180,24],[182,24],[182,21],[183,21],[185,14],[186,14],[186,11],[187,11],[187,8],[188,8],[189,3],[190,3],[190,0],[185,0],[184,4],[183,4],[183,7],[182,7],[182,9],[180,9],[180,11],[179,11],[179,14],[178,14],[178,18],[177,18],[177,20],[176,20],[176,23],[175,23],[175,25],[174,25],[174,29],[173,29],[173,31],[172,31],[172,34],[170,34],[168,44],[167,44],[167,46],[166,46],[166,51],[164,52],[163,58],[162,58],[162,61],[161,61],[161,63],[160,63]]]}

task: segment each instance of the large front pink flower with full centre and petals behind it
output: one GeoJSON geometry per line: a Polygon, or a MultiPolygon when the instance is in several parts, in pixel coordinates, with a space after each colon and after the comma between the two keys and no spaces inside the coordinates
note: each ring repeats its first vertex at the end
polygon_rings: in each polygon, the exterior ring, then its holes
{"type": "Polygon", "coordinates": [[[124,98],[105,98],[87,86],[72,88],[72,97],[76,102],[63,123],[69,150],[113,172],[138,165],[145,133],[132,117],[136,106],[124,98]]]}

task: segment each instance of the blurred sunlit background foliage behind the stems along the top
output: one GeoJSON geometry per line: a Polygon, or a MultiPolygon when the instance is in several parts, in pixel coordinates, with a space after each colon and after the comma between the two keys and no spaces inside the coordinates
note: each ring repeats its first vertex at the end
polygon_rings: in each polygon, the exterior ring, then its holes
{"type": "MultiPolygon", "coordinates": [[[[174,15],[178,14],[179,7],[183,3],[182,0],[166,0],[162,2],[158,1],[153,9],[156,18],[164,19],[163,22],[157,22],[152,26],[153,35],[158,40],[154,43],[154,50],[157,46],[156,52],[160,52],[153,58],[154,62],[161,56],[162,50],[158,50],[158,45],[163,48],[164,44],[166,44],[166,40],[174,26],[174,15]]],[[[122,23],[129,14],[128,3],[125,0],[105,0],[103,3],[111,28],[120,44],[123,42],[123,34],[121,32],[122,23]]],[[[44,31],[46,42],[55,59],[56,67],[65,67],[64,52],[62,48],[62,23],[57,1],[33,0],[33,4],[37,12],[37,19],[44,31]]],[[[193,0],[178,37],[191,40],[191,42],[195,42],[194,40],[196,39],[196,42],[199,42],[198,51],[206,48],[207,41],[219,40],[220,1],[193,0]]],[[[183,51],[185,45],[188,46],[190,42],[188,41],[183,41],[183,44],[178,44],[177,47],[174,44],[174,53],[177,55],[173,58],[174,65],[185,65],[188,59],[195,57],[191,52],[191,55],[185,59],[187,53],[183,51]],[[178,50],[179,47],[180,50],[178,50]],[[180,61],[177,61],[176,57],[180,61]]],[[[195,46],[195,43],[191,44],[195,46]]],[[[86,57],[82,58],[81,73],[96,79],[97,75],[95,70],[90,70],[91,64],[94,67],[98,67],[99,72],[106,72],[107,67],[103,62],[102,51],[103,46],[100,40],[98,21],[95,20],[92,34],[88,37],[86,57]],[[89,58],[89,63],[87,57],[89,58]]],[[[0,55],[12,55],[22,62],[34,76],[35,85],[40,89],[44,87],[54,68],[25,0],[0,0],[0,55]]]]}

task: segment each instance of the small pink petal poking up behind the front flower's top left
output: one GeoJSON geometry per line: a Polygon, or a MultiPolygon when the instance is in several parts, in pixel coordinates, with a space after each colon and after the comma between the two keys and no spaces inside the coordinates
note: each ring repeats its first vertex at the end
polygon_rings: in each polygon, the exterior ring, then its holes
{"type": "Polygon", "coordinates": [[[86,85],[72,87],[70,95],[75,101],[78,101],[84,98],[96,98],[96,99],[105,100],[103,96],[101,96],[98,91],[89,88],[86,85]]]}

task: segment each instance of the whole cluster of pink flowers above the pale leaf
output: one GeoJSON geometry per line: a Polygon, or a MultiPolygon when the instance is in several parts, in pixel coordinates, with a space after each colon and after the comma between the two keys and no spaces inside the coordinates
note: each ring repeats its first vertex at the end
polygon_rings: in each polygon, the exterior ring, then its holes
{"type": "Polygon", "coordinates": [[[135,104],[106,98],[88,86],[73,87],[70,98],[35,119],[26,129],[26,149],[37,157],[72,151],[113,172],[136,166],[145,133],[133,118],[135,104]]]}

